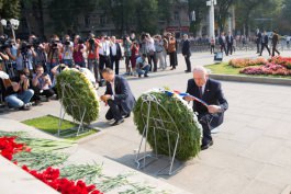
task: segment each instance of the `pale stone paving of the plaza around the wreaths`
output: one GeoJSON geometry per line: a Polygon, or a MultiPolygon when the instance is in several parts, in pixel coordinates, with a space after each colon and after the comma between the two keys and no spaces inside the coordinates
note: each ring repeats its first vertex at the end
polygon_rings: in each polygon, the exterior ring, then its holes
{"type": "MultiPolygon", "coordinates": [[[[286,56],[289,53],[284,54],[286,56]]],[[[206,65],[208,54],[193,54],[192,64],[206,65]]],[[[256,57],[251,53],[237,53],[233,57],[256,57]]],[[[231,57],[228,57],[231,58],[231,57]]],[[[130,78],[136,98],[152,88],[170,87],[184,91],[191,73],[184,73],[184,62],[176,71],[150,73],[147,79],[130,78]]],[[[213,135],[214,146],[202,151],[198,158],[183,164],[171,176],[158,176],[175,186],[197,194],[281,194],[291,184],[291,90],[290,87],[222,82],[230,103],[221,132],[213,135]]],[[[102,94],[103,88],[98,90],[102,94]]],[[[104,119],[108,107],[101,106],[101,117],[92,125],[101,134],[81,140],[80,147],[120,163],[135,168],[134,153],[138,135],[133,119],[111,127],[104,119]]],[[[23,121],[47,113],[58,115],[56,101],[29,112],[2,114],[23,121]]],[[[158,166],[158,164],[157,164],[158,166]]],[[[144,172],[155,176],[153,168],[144,172]]]]}

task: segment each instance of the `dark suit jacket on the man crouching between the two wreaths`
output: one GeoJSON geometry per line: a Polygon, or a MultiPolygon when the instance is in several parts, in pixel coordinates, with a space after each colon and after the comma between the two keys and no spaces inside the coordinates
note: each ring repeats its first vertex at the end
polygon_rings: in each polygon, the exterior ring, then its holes
{"type": "MultiPolygon", "coordinates": [[[[114,103],[122,106],[122,110],[127,114],[130,113],[135,104],[135,98],[132,93],[127,80],[123,77],[115,75],[114,78],[114,103]]],[[[112,87],[110,82],[107,82],[105,94],[113,95],[112,87]]]]}

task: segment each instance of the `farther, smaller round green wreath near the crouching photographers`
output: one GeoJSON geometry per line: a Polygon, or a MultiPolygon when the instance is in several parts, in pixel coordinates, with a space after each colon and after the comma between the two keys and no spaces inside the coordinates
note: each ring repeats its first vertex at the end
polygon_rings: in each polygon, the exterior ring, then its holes
{"type": "Polygon", "coordinates": [[[68,115],[71,115],[75,121],[80,122],[80,107],[82,110],[86,109],[86,114],[83,116],[85,124],[90,124],[99,117],[99,98],[97,95],[96,89],[93,88],[93,84],[83,73],[74,69],[65,70],[61,71],[56,77],[56,79],[58,95],[68,115]],[[63,92],[61,85],[64,85],[65,83],[66,85],[72,88],[74,91],[63,92]],[[63,96],[63,94],[65,96],[63,96]]]}

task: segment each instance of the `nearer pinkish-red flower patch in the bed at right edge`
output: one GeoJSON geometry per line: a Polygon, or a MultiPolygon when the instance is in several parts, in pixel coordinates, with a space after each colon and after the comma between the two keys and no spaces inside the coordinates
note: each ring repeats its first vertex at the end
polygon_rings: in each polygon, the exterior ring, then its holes
{"type": "Polygon", "coordinates": [[[239,71],[245,75],[275,75],[275,76],[291,76],[291,70],[277,64],[267,64],[260,67],[247,67],[239,71]]]}

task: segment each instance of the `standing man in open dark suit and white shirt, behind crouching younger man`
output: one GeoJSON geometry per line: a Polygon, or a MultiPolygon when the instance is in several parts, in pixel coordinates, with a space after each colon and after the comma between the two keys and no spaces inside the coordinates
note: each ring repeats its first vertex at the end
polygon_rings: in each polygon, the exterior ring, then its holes
{"type": "Polygon", "coordinates": [[[120,73],[120,59],[122,57],[120,44],[116,43],[115,36],[111,37],[110,45],[110,59],[111,59],[111,69],[114,69],[115,65],[115,75],[120,73]]]}

